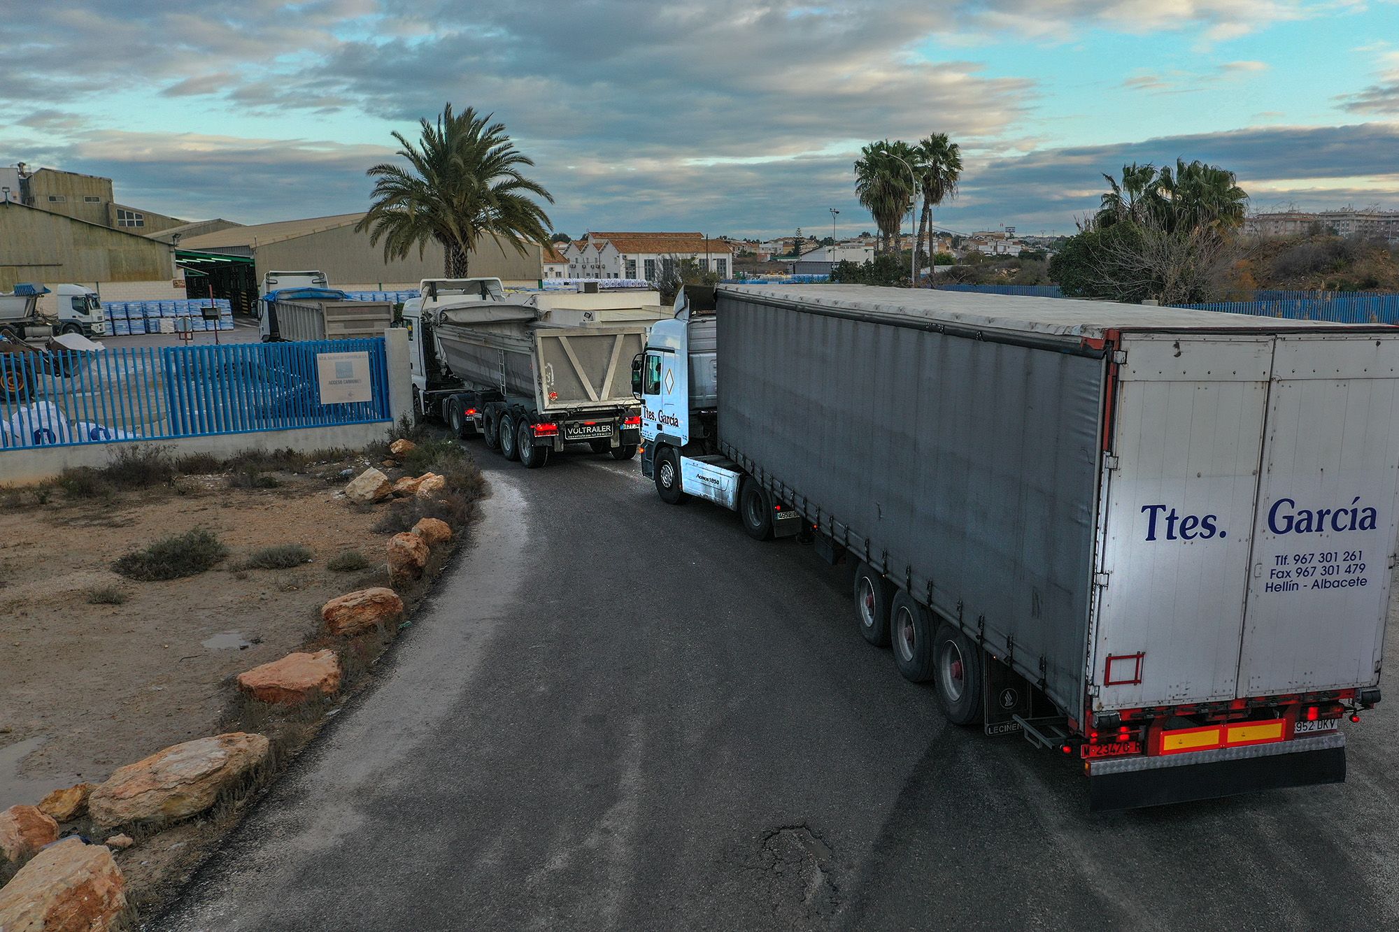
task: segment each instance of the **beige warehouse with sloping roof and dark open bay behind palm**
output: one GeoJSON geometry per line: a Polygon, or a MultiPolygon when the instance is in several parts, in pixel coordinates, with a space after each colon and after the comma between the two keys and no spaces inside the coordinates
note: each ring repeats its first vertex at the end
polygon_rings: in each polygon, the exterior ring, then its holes
{"type": "MultiPolygon", "coordinates": [[[[239,304],[239,294],[256,291],[269,270],[318,269],[333,288],[386,291],[416,288],[422,278],[441,278],[446,257],[436,242],[417,248],[407,259],[389,262],[383,242],[374,245],[368,232],[357,232],[360,214],[284,220],[252,227],[229,227],[197,236],[180,236],[175,243],[180,266],[207,273],[214,294],[239,304]]],[[[537,285],[544,277],[544,248],[525,243],[518,252],[506,241],[483,236],[471,255],[470,273],[501,278],[506,285],[537,285]]],[[[190,284],[192,292],[206,294],[190,284]]]]}

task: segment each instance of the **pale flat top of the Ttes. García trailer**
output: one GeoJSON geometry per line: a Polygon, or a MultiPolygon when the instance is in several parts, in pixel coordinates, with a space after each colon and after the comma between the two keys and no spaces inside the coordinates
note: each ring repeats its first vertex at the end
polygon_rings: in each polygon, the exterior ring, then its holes
{"type": "MultiPolygon", "coordinates": [[[[720,285],[719,290],[734,297],[751,295],[887,316],[891,323],[942,322],[986,330],[1069,337],[1095,339],[1102,337],[1107,330],[1252,330],[1267,333],[1276,330],[1374,329],[1371,325],[1290,320],[1116,301],[1023,298],[929,288],[818,284],[720,285]]],[[[1393,327],[1385,329],[1392,330],[1393,327]]]]}

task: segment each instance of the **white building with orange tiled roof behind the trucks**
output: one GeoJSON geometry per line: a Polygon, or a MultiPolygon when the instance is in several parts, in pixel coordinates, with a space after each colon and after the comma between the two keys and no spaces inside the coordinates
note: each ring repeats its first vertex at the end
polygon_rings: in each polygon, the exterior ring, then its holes
{"type": "Polygon", "coordinates": [[[720,278],[733,274],[733,246],[697,232],[590,232],[561,250],[574,278],[656,281],[667,263],[693,260],[720,278]]]}

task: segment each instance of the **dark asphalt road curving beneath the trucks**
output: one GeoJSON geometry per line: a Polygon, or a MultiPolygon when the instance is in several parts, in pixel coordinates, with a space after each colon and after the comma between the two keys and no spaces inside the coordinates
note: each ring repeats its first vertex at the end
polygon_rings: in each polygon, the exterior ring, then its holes
{"type": "Polygon", "coordinates": [[[1399,928],[1399,696],[1342,786],[1090,814],[1070,761],[946,725],[810,547],[473,449],[476,546],[155,928],[1399,928]]]}

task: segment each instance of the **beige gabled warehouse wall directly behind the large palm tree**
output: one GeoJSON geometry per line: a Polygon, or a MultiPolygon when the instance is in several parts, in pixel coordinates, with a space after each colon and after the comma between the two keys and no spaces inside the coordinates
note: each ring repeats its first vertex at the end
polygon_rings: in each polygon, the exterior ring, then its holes
{"type": "MultiPolygon", "coordinates": [[[[271,269],[319,269],[336,288],[343,288],[343,283],[365,280],[382,281],[385,288],[389,283],[417,287],[421,278],[441,278],[445,271],[442,248],[435,242],[428,243],[421,259],[417,249],[410,249],[407,259],[385,262],[383,242],[371,245],[369,234],[355,232],[354,225],[257,243],[253,259],[259,281],[271,269]]],[[[522,256],[513,248],[502,249],[492,238],[484,238],[480,250],[470,256],[470,274],[536,283],[543,274],[543,249],[530,245],[522,256]]]]}

